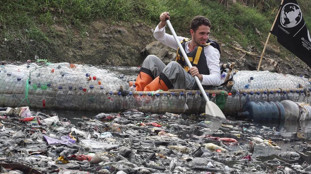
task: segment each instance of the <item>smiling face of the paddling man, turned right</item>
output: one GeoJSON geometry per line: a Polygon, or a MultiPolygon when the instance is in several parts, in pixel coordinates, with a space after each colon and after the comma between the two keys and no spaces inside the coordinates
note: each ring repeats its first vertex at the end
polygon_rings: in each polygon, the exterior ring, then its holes
{"type": "Polygon", "coordinates": [[[204,45],[209,38],[210,35],[210,27],[201,25],[197,28],[196,31],[190,30],[192,40],[197,44],[197,45],[204,45]]]}

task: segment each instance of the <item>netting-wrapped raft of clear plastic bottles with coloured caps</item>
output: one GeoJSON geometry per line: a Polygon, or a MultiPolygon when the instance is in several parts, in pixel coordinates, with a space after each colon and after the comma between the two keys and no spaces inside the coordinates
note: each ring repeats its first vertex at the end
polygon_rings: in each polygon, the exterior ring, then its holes
{"type": "MultiPolygon", "coordinates": [[[[1,106],[102,112],[137,109],[144,113],[197,114],[205,111],[206,101],[197,90],[131,92],[126,80],[91,65],[1,65],[0,76],[1,106]]],[[[233,82],[230,88],[206,90],[209,99],[226,115],[241,111],[248,101],[290,99],[310,103],[311,100],[309,80],[303,77],[268,71],[238,71],[234,73],[233,82]]]]}

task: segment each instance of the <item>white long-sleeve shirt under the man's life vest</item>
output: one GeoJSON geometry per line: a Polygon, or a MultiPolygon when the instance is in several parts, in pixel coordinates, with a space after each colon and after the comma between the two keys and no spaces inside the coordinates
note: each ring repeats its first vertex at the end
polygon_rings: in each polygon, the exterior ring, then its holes
{"type": "MultiPolygon", "coordinates": [[[[174,39],[174,36],[165,33],[165,27],[159,29],[158,25],[155,31],[153,32],[153,36],[156,38],[156,40],[160,41],[164,45],[169,46],[174,50],[177,50],[178,45],[174,39]]],[[[179,41],[182,41],[183,39],[185,39],[185,37],[178,36],[178,39],[179,41]]],[[[190,52],[189,43],[190,42],[186,42],[185,44],[186,53],[190,52]]],[[[208,45],[204,47],[204,54],[206,57],[206,63],[210,71],[210,75],[202,74],[203,76],[202,85],[219,85],[220,83],[219,51],[213,46],[208,45]]]]}

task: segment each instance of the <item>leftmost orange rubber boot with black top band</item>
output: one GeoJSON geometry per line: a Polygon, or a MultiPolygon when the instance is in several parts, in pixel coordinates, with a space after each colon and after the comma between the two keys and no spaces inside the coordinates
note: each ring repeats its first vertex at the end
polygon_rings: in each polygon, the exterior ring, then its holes
{"type": "Polygon", "coordinates": [[[151,71],[149,71],[150,70],[146,68],[141,68],[135,82],[136,91],[144,90],[145,86],[152,82],[153,77],[151,77],[152,74],[151,71]]]}

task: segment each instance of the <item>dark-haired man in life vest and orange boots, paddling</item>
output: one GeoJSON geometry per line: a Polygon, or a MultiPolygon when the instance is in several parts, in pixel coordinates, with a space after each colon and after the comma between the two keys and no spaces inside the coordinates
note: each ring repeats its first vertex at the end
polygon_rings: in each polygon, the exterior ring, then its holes
{"type": "Polygon", "coordinates": [[[204,89],[220,83],[220,49],[217,42],[209,39],[211,22],[203,16],[193,18],[190,25],[191,39],[179,36],[183,48],[178,48],[172,35],[165,33],[165,19],[170,19],[168,12],[160,15],[160,23],[153,36],[156,40],[177,50],[176,61],[165,64],[155,55],[149,55],[142,63],[142,68],[131,90],[155,91],[162,89],[197,89],[194,76],[201,81],[204,89]],[[218,49],[216,49],[218,48],[218,49]],[[184,49],[192,64],[188,68],[179,49],[184,49]]]}

